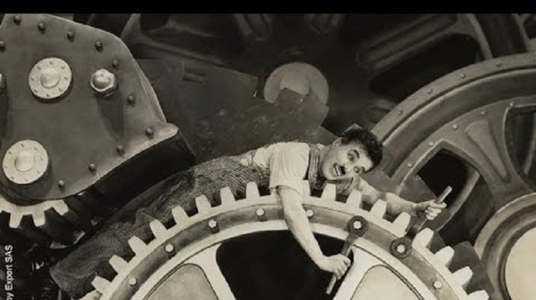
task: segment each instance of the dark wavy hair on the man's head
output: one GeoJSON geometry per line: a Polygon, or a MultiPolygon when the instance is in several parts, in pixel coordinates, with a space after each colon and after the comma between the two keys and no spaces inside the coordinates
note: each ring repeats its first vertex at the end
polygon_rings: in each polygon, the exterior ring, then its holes
{"type": "Polygon", "coordinates": [[[368,157],[372,161],[373,167],[379,165],[383,157],[383,147],[378,141],[374,133],[360,128],[359,126],[351,126],[341,135],[342,143],[360,143],[366,150],[368,157]]]}

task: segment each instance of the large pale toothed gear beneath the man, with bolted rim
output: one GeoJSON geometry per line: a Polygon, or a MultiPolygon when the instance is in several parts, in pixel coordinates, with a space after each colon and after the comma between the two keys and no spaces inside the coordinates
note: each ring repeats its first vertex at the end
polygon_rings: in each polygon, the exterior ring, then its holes
{"type": "MultiPolygon", "coordinates": [[[[304,194],[310,195],[306,181],[304,194]]],[[[223,244],[241,236],[287,230],[278,198],[274,194],[260,196],[256,184],[249,183],[243,200],[237,201],[231,190],[224,188],[221,205],[211,207],[205,196],[196,198],[195,203],[199,213],[193,216],[181,207],[173,208],[175,224],[170,228],[159,220],[150,222],[154,235],[150,242],[133,236],[129,244],[134,257],[111,257],[109,263],[117,275],[111,280],[96,276],[96,290],[84,299],[168,299],[168,295],[180,299],[238,299],[216,254],[223,244]]],[[[304,209],[317,234],[345,240],[346,224],[351,218],[360,216],[368,223],[368,229],[351,246],[354,263],[333,299],[355,299],[375,292],[373,289],[379,285],[368,284],[367,274],[379,268],[390,270],[396,275],[392,280],[403,286],[406,294],[397,299],[488,299],[481,288],[467,288],[473,276],[469,266],[449,270],[451,261],[460,253],[449,246],[435,253],[430,250],[434,238],[430,229],[416,235],[409,256],[394,257],[390,244],[406,234],[411,218],[402,213],[390,222],[386,219],[386,206],[378,200],[370,210],[362,208],[357,190],[342,203],[335,200],[334,185],[327,185],[320,197],[304,197],[304,209]]]]}

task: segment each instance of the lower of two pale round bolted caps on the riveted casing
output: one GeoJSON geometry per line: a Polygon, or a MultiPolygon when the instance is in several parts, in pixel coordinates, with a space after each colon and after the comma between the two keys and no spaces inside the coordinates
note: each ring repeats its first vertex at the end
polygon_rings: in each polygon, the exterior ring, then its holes
{"type": "Polygon", "coordinates": [[[3,174],[12,183],[27,185],[37,181],[48,168],[47,150],[38,141],[13,144],[3,157],[3,174]]]}

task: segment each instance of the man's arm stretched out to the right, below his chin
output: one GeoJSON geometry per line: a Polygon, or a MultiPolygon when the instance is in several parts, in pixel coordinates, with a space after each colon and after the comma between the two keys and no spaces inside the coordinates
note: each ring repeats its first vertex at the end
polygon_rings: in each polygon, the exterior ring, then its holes
{"type": "Polygon", "coordinates": [[[435,203],[434,199],[421,203],[414,203],[399,197],[397,194],[380,192],[363,178],[360,178],[357,189],[361,190],[364,194],[363,200],[370,205],[373,205],[378,199],[386,200],[387,212],[394,216],[397,216],[402,212],[417,216],[418,213],[423,212],[426,214],[427,219],[432,220],[438,216],[441,209],[446,207],[445,203],[435,203]]]}

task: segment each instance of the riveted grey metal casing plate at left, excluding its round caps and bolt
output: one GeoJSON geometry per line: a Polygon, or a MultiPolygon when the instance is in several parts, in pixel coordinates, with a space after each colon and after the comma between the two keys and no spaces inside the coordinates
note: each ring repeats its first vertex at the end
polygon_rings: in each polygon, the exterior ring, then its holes
{"type": "Polygon", "coordinates": [[[5,43],[0,73],[7,86],[0,154],[16,141],[34,139],[47,149],[50,163],[41,180],[23,189],[11,185],[2,174],[0,183],[14,198],[38,201],[74,195],[139,152],[175,135],[176,126],[166,123],[154,91],[119,38],[50,15],[23,14],[20,23],[13,18],[6,14],[0,27],[5,43]],[[41,23],[45,30],[40,30],[41,23]],[[68,93],[45,102],[34,97],[27,82],[36,62],[49,57],[67,62],[73,78],[68,93]],[[113,60],[120,62],[117,68],[112,67],[113,60]],[[89,84],[98,69],[109,69],[118,78],[118,91],[106,99],[95,95],[89,84]],[[129,95],[137,98],[135,106],[126,103],[129,95]],[[147,128],[153,130],[152,135],[146,135],[147,128]],[[120,145],[122,154],[115,150],[120,145]],[[88,167],[91,163],[93,170],[88,167]],[[62,187],[58,187],[60,180],[62,187]]]}

